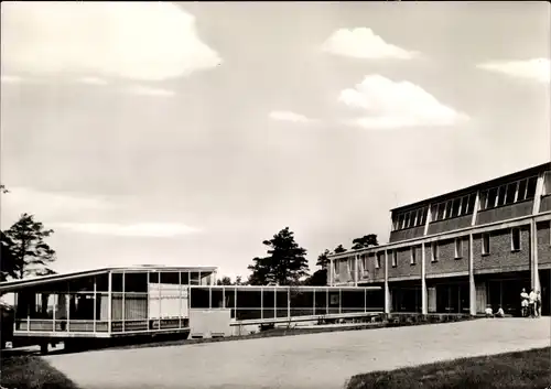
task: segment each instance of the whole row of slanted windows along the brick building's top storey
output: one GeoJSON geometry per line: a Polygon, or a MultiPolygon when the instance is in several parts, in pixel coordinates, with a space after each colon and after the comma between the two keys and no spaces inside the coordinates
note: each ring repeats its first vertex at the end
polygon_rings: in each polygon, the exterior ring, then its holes
{"type": "MultiPolygon", "coordinates": [[[[536,195],[537,182],[538,177],[532,176],[482,191],[480,210],[532,199],[536,195]]],[[[551,172],[544,174],[543,194],[551,194],[551,172]]],[[[471,215],[474,212],[475,203],[476,193],[472,193],[435,204],[431,207],[431,221],[471,215]]],[[[426,223],[426,207],[398,214],[392,220],[392,230],[422,226],[426,223]]]]}

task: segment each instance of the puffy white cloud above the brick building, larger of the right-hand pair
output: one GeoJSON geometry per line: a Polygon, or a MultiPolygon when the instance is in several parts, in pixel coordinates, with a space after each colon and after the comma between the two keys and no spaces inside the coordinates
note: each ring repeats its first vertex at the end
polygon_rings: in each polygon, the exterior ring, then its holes
{"type": "Polygon", "coordinates": [[[364,128],[453,126],[467,119],[418,85],[380,75],[366,76],[354,88],[342,90],[338,100],[364,111],[361,118],[348,122],[364,128]]]}

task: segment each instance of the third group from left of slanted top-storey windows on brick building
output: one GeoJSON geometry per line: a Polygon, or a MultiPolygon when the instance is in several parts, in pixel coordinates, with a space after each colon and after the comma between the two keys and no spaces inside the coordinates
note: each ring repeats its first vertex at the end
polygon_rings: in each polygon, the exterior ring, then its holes
{"type": "Polygon", "coordinates": [[[538,177],[529,177],[480,192],[480,210],[531,199],[536,195],[538,177]]]}

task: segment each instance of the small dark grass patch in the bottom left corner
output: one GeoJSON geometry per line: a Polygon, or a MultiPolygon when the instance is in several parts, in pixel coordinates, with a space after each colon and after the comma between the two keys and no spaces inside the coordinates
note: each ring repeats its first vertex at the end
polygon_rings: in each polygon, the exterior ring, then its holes
{"type": "Polygon", "coordinates": [[[7,389],[78,389],[44,359],[34,355],[2,353],[0,383],[7,389]]]}

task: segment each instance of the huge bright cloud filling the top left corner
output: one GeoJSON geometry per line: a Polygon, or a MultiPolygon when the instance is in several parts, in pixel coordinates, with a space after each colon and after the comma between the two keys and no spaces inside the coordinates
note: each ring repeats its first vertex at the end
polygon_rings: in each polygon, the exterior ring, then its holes
{"type": "Polygon", "coordinates": [[[170,2],[18,1],[1,15],[2,73],[162,80],[222,62],[170,2]]]}

